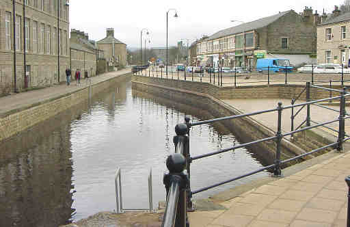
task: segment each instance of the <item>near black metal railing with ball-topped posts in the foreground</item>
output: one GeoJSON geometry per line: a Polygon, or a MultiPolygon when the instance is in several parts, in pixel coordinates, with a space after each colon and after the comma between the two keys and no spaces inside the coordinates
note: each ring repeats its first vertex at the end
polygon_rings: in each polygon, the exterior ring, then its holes
{"type": "MultiPolygon", "coordinates": [[[[306,88],[306,91],[309,90],[310,88],[306,88]]],[[[305,90],[304,90],[305,91],[305,90]]],[[[176,148],[176,152],[181,152],[182,154],[184,154],[184,158],[185,160],[183,162],[186,163],[186,169],[187,169],[187,173],[190,172],[190,164],[193,161],[196,161],[198,159],[202,159],[205,157],[211,157],[213,155],[218,155],[220,153],[223,152],[228,152],[230,150],[236,150],[238,148],[243,148],[243,147],[247,147],[247,146],[252,146],[254,144],[259,144],[262,142],[268,142],[268,141],[275,141],[275,159],[273,161],[273,164],[271,165],[267,165],[263,168],[260,168],[258,170],[254,170],[252,172],[248,172],[246,174],[242,174],[241,176],[236,176],[234,178],[230,178],[226,181],[220,182],[220,183],[215,183],[213,185],[208,185],[206,187],[202,187],[200,189],[196,189],[196,190],[191,190],[191,178],[189,176],[189,174],[187,174],[187,185],[186,185],[186,192],[187,192],[187,196],[186,199],[187,200],[183,200],[183,202],[186,204],[187,206],[187,211],[189,211],[189,209],[193,209],[191,202],[189,202],[192,198],[192,196],[196,193],[200,193],[202,191],[206,191],[208,189],[212,189],[213,187],[217,187],[219,185],[224,185],[226,183],[230,183],[232,181],[237,181],[238,179],[241,178],[245,178],[246,176],[251,176],[253,174],[256,174],[258,172],[263,172],[265,170],[272,170],[273,172],[273,176],[281,176],[282,175],[282,165],[285,163],[289,163],[291,161],[295,161],[297,159],[301,159],[303,157],[306,157],[308,155],[312,155],[315,152],[319,152],[321,150],[325,150],[326,148],[336,148],[338,151],[342,151],[343,150],[343,143],[346,142],[348,139],[350,139],[350,137],[345,138],[345,120],[347,118],[350,118],[350,116],[345,116],[345,98],[347,96],[350,96],[350,94],[347,94],[346,89],[344,88],[342,91],[336,90],[337,92],[340,92],[340,96],[336,96],[336,97],[331,97],[331,98],[323,98],[323,99],[319,99],[319,100],[314,100],[314,101],[310,101],[310,96],[308,97],[308,100],[305,103],[299,103],[299,104],[295,104],[293,103],[292,105],[288,105],[288,106],[282,106],[282,103],[278,103],[278,106],[273,108],[273,109],[267,109],[267,110],[263,110],[263,111],[256,111],[250,114],[241,114],[241,115],[236,115],[236,116],[226,116],[223,118],[216,118],[216,119],[212,119],[212,120],[203,120],[203,121],[199,121],[199,122],[190,122],[189,118],[185,118],[185,123],[184,124],[177,124],[175,131],[176,131],[176,136],[174,137],[174,144],[175,144],[175,148],[176,148]],[[293,109],[295,107],[308,107],[310,108],[310,105],[314,105],[317,103],[322,103],[325,101],[334,101],[334,100],[340,100],[340,111],[339,111],[339,116],[336,119],[333,120],[329,120],[327,122],[322,122],[322,123],[318,123],[318,124],[313,124],[311,125],[311,120],[310,120],[310,124],[306,124],[306,121],[304,121],[304,126],[303,127],[298,127],[298,129],[289,131],[287,133],[282,133],[282,111],[284,111],[285,109],[293,109]],[[214,122],[219,122],[219,121],[223,121],[223,120],[235,120],[235,119],[239,119],[239,118],[245,118],[248,116],[256,116],[258,114],[265,114],[265,113],[271,113],[271,112],[277,112],[278,114],[278,118],[277,118],[277,131],[275,132],[274,136],[271,137],[267,137],[267,138],[263,138],[263,139],[258,139],[252,142],[247,142],[245,144],[239,144],[239,145],[234,145],[232,147],[229,148],[224,148],[221,150],[215,150],[213,152],[208,152],[206,154],[203,155],[197,155],[194,157],[191,157],[191,154],[189,152],[189,131],[191,129],[191,127],[193,126],[198,126],[201,124],[210,124],[210,123],[214,123],[214,122]],[[284,137],[287,137],[289,135],[293,135],[295,133],[300,133],[303,131],[308,131],[310,129],[314,129],[320,126],[327,126],[327,124],[332,124],[334,122],[338,122],[338,140],[337,142],[331,143],[331,144],[327,144],[325,146],[322,146],[320,148],[314,149],[314,150],[310,150],[309,152],[305,152],[301,155],[297,155],[295,157],[292,157],[290,159],[286,159],[286,160],[281,160],[281,151],[282,151],[282,139],[284,139],[284,137]]],[[[310,116],[310,115],[309,115],[310,116]]],[[[168,158],[169,159],[169,158],[168,158]]],[[[185,164],[183,164],[185,165],[185,164]]],[[[185,167],[184,167],[185,168],[185,167]]],[[[170,170],[171,172],[171,170],[170,170]]],[[[350,180],[349,180],[350,181],[350,180]]],[[[169,185],[169,183],[165,183],[165,187],[167,188],[167,185],[169,185]]],[[[170,206],[171,204],[174,203],[174,198],[175,196],[167,196],[167,206],[170,206]],[[172,199],[172,201],[170,201],[170,199],[172,199]]],[[[179,200],[177,200],[179,201],[179,200]]],[[[183,205],[184,206],[184,205],[183,205]]],[[[181,206],[181,207],[183,207],[181,206]]],[[[174,209],[170,210],[167,209],[165,212],[165,216],[167,218],[173,217],[174,213],[174,209]],[[170,214],[171,213],[171,214],[170,214]]],[[[165,219],[164,219],[165,220],[165,219]]],[[[164,222],[163,222],[164,223],[164,222]]],[[[168,223],[168,222],[167,222],[168,223]]],[[[183,225],[179,225],[179,226],[183,226],[183,225]]]]}

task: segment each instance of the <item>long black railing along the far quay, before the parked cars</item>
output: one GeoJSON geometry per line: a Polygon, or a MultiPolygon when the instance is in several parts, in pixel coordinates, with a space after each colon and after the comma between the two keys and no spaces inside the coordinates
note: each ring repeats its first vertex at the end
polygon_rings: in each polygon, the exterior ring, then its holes
{"type": "MultiPolygon", "coordinates": [[[[134,75],[143,75],[146,77],[163,78],[163,68],[150,65],[135,66],[134,75]]],[[[212,83],[219,87],[254,84],[288,84],[293,82],[310,82],[313,84],[344,85],[350,82],[350,68],[344,65],[338,66],[303,66],[304,70],[295,70],[291,66],[267,66],[267,67],[196,67],[187,66],[185,68],[176,68],[168,66],[168,75],[165,79],[181,79],[198,82],[212,83]],[[321,68],[321,69],[320,69],[321,68]],[[322,69],[324,68],[324,69],[322,69]],[[327,70],[326,68],[333,68],[327,70]],[[168,77],[169,76],[169,77],[168,77]],[[171,77],[170,77],[171,76],[171,77]],[[190,77],[190,78],[189,78],[190,77]],[[330,80],[329,80],[330,78],[330,80]]]]}

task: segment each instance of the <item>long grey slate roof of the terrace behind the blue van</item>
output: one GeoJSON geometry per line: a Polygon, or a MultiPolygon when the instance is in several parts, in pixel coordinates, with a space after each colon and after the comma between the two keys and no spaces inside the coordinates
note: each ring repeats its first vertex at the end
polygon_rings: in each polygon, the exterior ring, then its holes
{"type": "Polygon", "coordinates": [[[239,34],[242,33],[243,31],[251,31],[254,29],[259,29],[261,27],[265,27],[271,23],[273,23],[274,21],[277,21],[278,18],[288,14],[288,12],[293,12],[293,10],[288,10],[286,12],[280,12],[279,14],[275,14],[273,16],[267,16],[264,18],[260,18],[256,21],[251,21],[248,23],[243,23],[241,25],[237,25],[235,27],[230,27],[228,29],[224,29],[221,31],[217,31],[217,33],[209,36],[206,40],[215,40],[217,38],[221,38],[224,36],[230,36],[233,34],[239,34]]]}

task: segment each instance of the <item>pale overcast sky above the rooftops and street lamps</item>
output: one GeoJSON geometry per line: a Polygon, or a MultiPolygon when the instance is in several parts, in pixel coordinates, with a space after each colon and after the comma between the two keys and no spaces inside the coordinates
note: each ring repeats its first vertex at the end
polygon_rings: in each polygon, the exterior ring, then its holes
{"type": "MultiPolygon", "coordinates": [[[[286,10],[302,12],[305,6],[329,13],[334,5],[344,0],[245,0],[245,1],[198,1],[198,0],[70,0],[70,29],[79,29],[89,34],[92,40],[106,36],[106,28],[113,27],[115,37],[128,48],[139,48],[140,31],[150,31],[148,46],[166,45],[166,13],[168,16],[168,46],[174,46],[184,39],[193,42],[204,34],[239,25],[236,21],[254,21],[286,10]],[[208,2],[208,3],[207,3],[208,2]]],[[[142,35],[144,39],[146,33],[142,35]]],[[[144,41],[142,41],[144,48],[144,41]]]]}

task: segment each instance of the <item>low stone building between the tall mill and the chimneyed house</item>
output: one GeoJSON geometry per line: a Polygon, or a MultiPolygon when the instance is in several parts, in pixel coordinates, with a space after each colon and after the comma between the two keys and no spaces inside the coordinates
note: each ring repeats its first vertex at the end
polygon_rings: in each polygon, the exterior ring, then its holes
{"type": "MultiPolygon", "coordinates": [[[[72,75],[79,69],[82,77],[94,77],[98,74],[98,64],[105,64],[103,51],[98,49],[96,42],[89,40],[84,31],[70,31],[70,68],[72,75]]],[[[106,68],[103,66],[103,68],[106,68]]],[[[104,70],[105,71],[105,70],[104,70]]]]}

